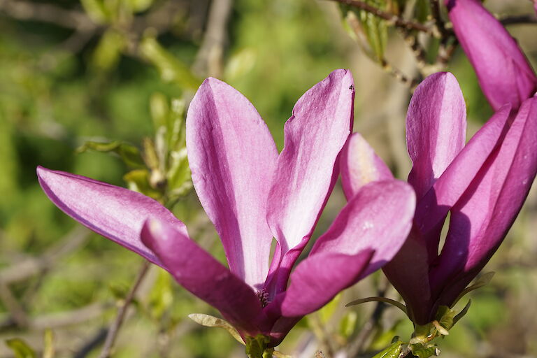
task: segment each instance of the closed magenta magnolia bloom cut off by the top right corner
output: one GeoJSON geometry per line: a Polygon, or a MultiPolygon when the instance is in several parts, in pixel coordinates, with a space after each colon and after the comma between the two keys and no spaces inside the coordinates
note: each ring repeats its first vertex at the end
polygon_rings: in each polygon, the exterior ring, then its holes
{"type": "Polygon", "coordinates": [[[514,109],[537,90],[537,76],[503,25],[479,0],[445,0],[453,30],[494,110],[514,109]]]}

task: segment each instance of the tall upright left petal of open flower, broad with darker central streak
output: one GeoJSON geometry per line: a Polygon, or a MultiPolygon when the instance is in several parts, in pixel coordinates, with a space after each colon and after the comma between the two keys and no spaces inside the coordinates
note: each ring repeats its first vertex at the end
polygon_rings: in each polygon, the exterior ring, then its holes
{"type": "Polygon", "coordinates": [[[245,96],[208,78],[188,110],[187,151],[196,193],[231,272],[259,285],[268,272],[273,235],[266,203],[278,157],[266,124],[245,96]]]}

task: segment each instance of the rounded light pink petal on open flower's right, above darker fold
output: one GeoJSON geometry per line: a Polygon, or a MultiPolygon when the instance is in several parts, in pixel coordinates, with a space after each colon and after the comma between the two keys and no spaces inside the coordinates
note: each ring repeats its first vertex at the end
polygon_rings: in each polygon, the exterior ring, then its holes
{"type": "Polygon", "coordinates": [[[361,278],[389,262],[405,242],[415,209],[415,193],[406,182],[371,182],[345,205],[331,227],[317,239],[311,255],[338,252],[375,254],[361,278]]]}

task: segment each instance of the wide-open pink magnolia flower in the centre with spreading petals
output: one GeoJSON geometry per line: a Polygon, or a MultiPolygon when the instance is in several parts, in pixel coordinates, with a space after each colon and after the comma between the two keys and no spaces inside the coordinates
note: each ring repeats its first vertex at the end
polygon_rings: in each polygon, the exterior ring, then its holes
{"type": "Polygon", "coordinates": [[[273,347],[303,315],[392,259],[412,226],[410,185],[393,179],[371,183],[291,273],[338,176],[336,159],[350,134],[353,98],[352,75],[344,70],[308,90],[285,124],[278,155],[248,99],[220,80],[203,82],[187,114],[187,152],[194,188],[220,235],[229,269],[147,196],[41,167],[38,177],[65,213],[169,271],[220,310],[245,341],[262,334],[273,347]]]}

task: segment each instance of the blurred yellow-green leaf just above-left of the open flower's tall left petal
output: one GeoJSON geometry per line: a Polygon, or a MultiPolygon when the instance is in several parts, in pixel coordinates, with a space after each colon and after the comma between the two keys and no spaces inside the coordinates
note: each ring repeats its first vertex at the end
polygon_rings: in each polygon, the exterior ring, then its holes
{"type": "Polygon", "coordinates": [[[159,69],[163,80],[177,83],[188,90],[197,90],[201,80],[196,78],[186,64],[164,49],[152,36],[145,36],[140,43],[140,52],[159,69]]]}

